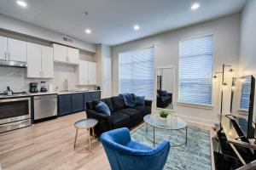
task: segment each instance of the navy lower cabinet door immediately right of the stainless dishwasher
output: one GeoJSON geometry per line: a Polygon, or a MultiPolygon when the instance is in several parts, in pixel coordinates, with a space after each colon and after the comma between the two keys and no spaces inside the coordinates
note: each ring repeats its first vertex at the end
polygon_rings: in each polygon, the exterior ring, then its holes
{"type": "Polygon", "coordinates": [[[72,94],[59,95],[58,116],[68,115],[72,112],[72,94]]]}

